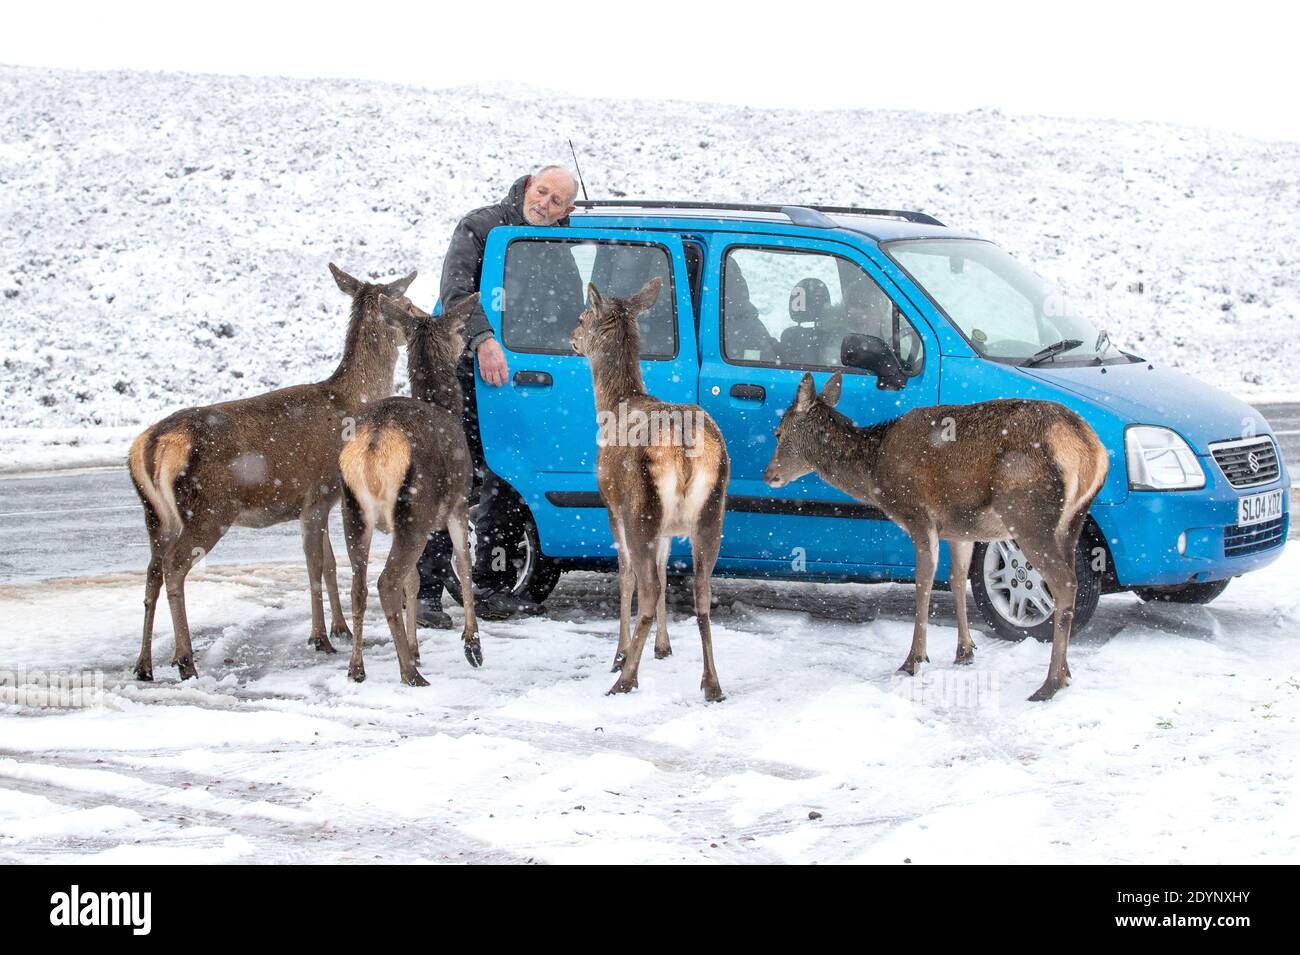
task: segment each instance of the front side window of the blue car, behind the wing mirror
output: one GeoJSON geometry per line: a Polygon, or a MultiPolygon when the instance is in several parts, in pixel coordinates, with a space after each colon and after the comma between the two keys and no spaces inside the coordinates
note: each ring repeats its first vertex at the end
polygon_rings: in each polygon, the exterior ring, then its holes
{"type": "Polygon", "coordinates": [[[842,368],[849,334],[888,343],[907,372],[922,340],[855,262],[823,252],[733,248],[723,264],[723,353],[738,364],[842,368]]]}

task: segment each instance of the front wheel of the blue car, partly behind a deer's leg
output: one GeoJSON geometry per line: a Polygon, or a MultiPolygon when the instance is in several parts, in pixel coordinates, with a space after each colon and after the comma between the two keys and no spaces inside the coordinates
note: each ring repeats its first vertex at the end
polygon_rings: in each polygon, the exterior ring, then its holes
{"type": "MultiPolygon", "coordinates": [[[[1101,599],[1101,574],[1092,568],[1092,555],[1083,537],[1075,547],[1074,569],[1079,592],[1074,602],[1071,637],[1088,625],[1101,599]]],[[[975,544],[970,582],[975,605],[994,637],[1052,639],[1056,600],[1015,541],[975,544]]]]}

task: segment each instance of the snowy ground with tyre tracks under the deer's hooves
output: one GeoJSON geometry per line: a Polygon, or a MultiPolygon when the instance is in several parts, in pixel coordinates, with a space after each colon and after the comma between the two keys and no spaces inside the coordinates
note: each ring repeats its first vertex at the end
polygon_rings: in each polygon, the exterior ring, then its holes
{"type": "Polygon", "coordinates": [[[896,677],[902,586],[720,581],[722,704],[697,690],[684,591],[675,655],[603,695],[606,576],[566,577],[545,618],[486,622],[480,670],[422,631],[425,689],[396,682],[373,583],[369,680],[313,654],[299,564],[191,578],[185,685],[165,624],[159,682],[129,677],[140,574],[0,586],[20,680],[104,678],[90,708],[0,704],[0,861],[1295,860],[1297,570],[1292,547],[1206,608],[1105,598],[1049,704],[1024,699],[1041,644],[976,638],[975,667],[952,667],[946,594],[935,663],[896,677]]]}

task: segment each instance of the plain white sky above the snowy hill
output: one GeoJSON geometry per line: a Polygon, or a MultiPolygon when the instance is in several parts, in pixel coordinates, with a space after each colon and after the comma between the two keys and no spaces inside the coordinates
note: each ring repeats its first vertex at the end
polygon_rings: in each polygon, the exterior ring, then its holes
{"type": "Polygon", "coordinates": [[[0,62],[800,109],[997,107],[1300,140],[1290,3],[452,4],[31,0],[0,13],[0,62]]]}

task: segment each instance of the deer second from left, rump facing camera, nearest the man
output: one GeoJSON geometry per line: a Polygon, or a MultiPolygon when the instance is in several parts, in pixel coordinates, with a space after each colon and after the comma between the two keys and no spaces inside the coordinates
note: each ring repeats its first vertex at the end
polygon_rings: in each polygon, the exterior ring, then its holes
{"type": "Polygon", "coordinates": [[[352,563],[352,659],[347,676],[361,682],[361,622],[365,616],[365,572],[370,535],[378,528],[393,535],[380,574],[380,603],[393,633],[402,682],[428,686],[416,664],[415,602],[420,590],[416,565],[429,534],[447,529],[465,605],[462,639],[471,667],[484,661],[469,585],[469,476],[473,461],[462,424],[456,363],[464,351],[465,316],[478,304],[474,292],[447,314],[433,318],[407,299],[380,296],[380,311],[407,340],[411,398],[386,398],[356,417],[356,433],[338,456],[343,479],[343,534],[352,563]],[[406,621],[403,622],[403,613],[406,621]]]}

